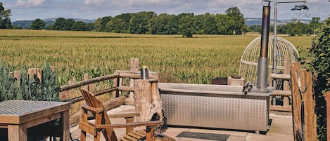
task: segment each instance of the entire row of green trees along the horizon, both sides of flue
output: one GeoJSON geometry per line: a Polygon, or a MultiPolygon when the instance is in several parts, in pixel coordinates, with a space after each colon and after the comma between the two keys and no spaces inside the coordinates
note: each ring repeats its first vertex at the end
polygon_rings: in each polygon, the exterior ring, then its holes
{"type": "MultiPolygon", "coordinates": [[[[0,2],[0,28],[21,29],[12,26],[11,10],[5,10],[0,2]]],[[[321,25],[320,18],[312,18],[309,24],[294,20],[286,25],[278,25],[279,34],[302,35],[314,34],[314,29],[321,25]]],[[[228,8],[224,14],[167,13],[156,14],[153,11],[138,13],[122,13],[114,17],[98,18],[87,23],[72,19],[57,18],[53,24],[46,24],[41,19],[32,22],[29,29],[52,29],[74,31],[115,32],[128,34],[182,34],[191,37],[193,34],[244,34],[246,32],[261,33],[261,25],[246,26],[244,16],[237,7],[228,8]]],[[[274,27],[270,28],[270,32],[274,27]]]]}

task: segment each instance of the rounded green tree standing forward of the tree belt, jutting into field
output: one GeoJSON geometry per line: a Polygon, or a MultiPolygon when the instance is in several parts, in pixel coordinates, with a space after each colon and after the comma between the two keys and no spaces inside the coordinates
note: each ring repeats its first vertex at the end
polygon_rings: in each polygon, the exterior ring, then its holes
{"type": "Polygon", "coordinates": [[[193,37],[195,33],[194,22],[193,15],[185,15],[182,17],[179,20],[179,34],[182,34],[183,37],[193,37]]]}

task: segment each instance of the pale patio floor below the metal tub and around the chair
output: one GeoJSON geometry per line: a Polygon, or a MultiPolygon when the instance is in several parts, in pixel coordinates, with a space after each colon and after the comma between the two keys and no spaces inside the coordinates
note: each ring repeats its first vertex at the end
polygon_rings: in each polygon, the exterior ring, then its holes
{"type": "MultiPolygon", "coordinates": [[[[127,113],[134,112],[133,106],[120,106],[118,108],[108,111],[111,113],[127,113]]],[[[167,128],[164,135],[174,137],[180,141],[203,141],[202,139],[188,138],[188,137],[177,137],[183,131],[196,132],[196,133],[213,133],[213,134],[225,134],[229,135],[226,141],[293,141],[293,127],[292,127],[292,116],[291,114],[274,114],[269,115],[272,119],[272,124],[267,133],[255,134],[254,131],[238,131],[238,130],[219,130],[219,129],[200,129],[200,128],[167,128]]],[[[110,119],[111,123],[125,123],[125,119],[110,119]]],[[[77,126],[70,129],[73,139],[80,139],[80,130],[77,126]]],[[[125,128],[115,129],[116,135],[121,137],[125,135],[125,128]]],[[[92,135],[87,135],[87,140],[93,140],[92,135]]],[[[101,137],[101,140],[104,140],[101,137]]],[[[205,140],[211,141],[211,140],[205,140]]]]}

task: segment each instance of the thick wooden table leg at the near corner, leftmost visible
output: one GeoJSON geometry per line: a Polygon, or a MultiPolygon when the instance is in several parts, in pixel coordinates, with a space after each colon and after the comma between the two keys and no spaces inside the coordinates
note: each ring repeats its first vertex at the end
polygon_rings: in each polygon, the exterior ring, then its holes
{"type": "Polygon", "coordinates": [[[26,125],[8,125],[8,141],[27,141],[26,125]]]}

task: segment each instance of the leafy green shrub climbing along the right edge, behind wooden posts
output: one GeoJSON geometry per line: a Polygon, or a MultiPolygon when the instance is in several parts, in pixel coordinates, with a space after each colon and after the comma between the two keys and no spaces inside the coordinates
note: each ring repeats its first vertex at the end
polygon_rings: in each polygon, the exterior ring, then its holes
{"type": "Polygon", "coordinates": [[[313,89],[316,96],[317,133],[319,141],[326,140],[326,102],[323,94],[330,90],[330,18],[315,32],[312,48],[303,64],[313,73],[313,89]]]}

